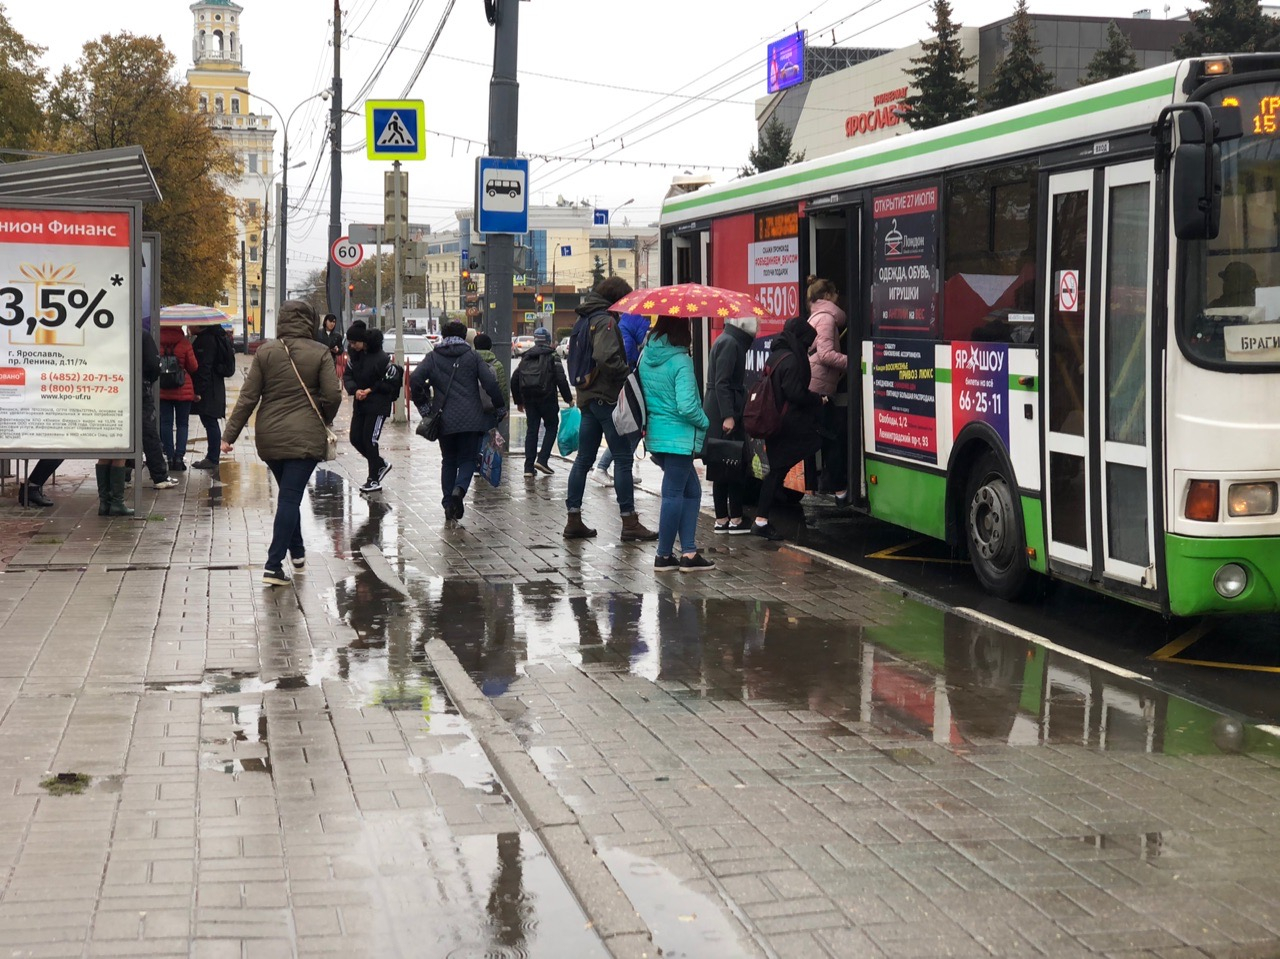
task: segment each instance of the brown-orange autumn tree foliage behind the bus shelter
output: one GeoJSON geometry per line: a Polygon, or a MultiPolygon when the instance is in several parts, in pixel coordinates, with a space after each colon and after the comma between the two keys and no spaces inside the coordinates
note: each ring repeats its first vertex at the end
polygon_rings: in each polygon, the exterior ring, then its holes
{"type": "Polygon", "coordinates": [[[142,207],[142,229],[163,238],[164,298],[216,302],[238,252],[236,201],[223,186],[236,159],[178,78],[173,54],[159,37],[104,36],[50,83],[37,64],[42,52],[0,5],[0,150],[141,146],[163,196],[142,207]]]}

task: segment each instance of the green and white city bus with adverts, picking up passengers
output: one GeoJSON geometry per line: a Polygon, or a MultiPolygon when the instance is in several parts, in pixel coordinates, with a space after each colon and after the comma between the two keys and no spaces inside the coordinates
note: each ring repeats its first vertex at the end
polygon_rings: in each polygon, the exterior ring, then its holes
{"type": "Polygon", "coordinates": [[[833,280],[860,507],[996,595],[1276,611],[1277,117],[1280,56],[1184,60],[673,192],[662,279],[754,293],[760,350],[833,280]]]}

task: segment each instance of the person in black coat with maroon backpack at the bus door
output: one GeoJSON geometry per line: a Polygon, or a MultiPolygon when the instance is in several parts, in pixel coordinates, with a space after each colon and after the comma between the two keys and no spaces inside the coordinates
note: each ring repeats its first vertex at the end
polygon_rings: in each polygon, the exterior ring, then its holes
{"type": "Polygon", "coordinates": [[[782,488],[782,480],[796,463],[818,452],[822,446],[818,416],[827,398],[809,389],[813,378],[809,347],[815,337],[813,326],[799,316],[792,316],[783,324],[782,333],[773,338],[769,353],[773,397],[785,412],[777,434],[764,444],[769,472],[760,484],[755,525],[751,526],[751,533],[765,539],[782,539],[777,528],[769,524],[769,510],[782,488]]]}

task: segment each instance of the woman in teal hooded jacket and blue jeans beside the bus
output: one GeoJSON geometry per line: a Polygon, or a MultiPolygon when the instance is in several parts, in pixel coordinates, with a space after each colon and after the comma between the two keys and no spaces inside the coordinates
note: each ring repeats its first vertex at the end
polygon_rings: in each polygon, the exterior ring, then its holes
{"type": "Polygon", "coordinates": [[[645,447],[662,467],[655,572],[698,572],[716,566],[698,552],[696,544],[703,488],[694,471],[694,457],[703,451],[708,421],[689,355],[691,343],[689,320],[662,316],[649,333],[649,346],[640,353],[640,385],[648,411],[645,447]],[[673,552],[676,533],[680,533],[678,558],[673,552]]]}

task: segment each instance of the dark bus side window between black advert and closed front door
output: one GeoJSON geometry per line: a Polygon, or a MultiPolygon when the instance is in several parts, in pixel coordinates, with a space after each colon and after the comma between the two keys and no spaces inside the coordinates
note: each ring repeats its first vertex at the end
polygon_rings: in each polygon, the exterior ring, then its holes
{"type": "Polygon", "coordinates": [[[1028,163],[947,178],[943,339],[1037,339],[1037,184],[1028,163]]]}

